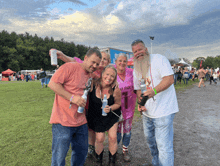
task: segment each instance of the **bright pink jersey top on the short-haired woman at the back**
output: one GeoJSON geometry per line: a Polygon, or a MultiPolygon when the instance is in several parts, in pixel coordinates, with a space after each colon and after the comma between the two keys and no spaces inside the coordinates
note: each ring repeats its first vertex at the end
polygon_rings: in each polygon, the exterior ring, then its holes
{"type": "Polygon", "coordinates": [[[122,81],[117,76],[117,82],[121,90],[121,110],[124,119],[129,119],[134,115],[136,105],[136,94],[134,93],[133,69],[125,69],[125,80],[122,81]]]}

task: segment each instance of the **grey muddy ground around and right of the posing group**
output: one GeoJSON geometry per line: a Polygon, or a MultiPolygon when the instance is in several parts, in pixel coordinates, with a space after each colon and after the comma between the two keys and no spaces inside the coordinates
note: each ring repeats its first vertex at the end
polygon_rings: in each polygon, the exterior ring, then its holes
{"type": "MultiPolygon", "coordinates": [[[[220,82],[217,85],[205,84],[206,87],[193,85],[177,92],[179,112],[174,118],[175,166],[220,166],[220,82]]],[[[131,162],[123,162],[121,147],[120,144],[117,165],[137,166],[151,162],[141,119],[137,119],[132,128],[131,162]]],[[[106,166],[107,162],[106,142],[103,165],[106,166]]],[[[85,166],[94,164],[94,160],[87,159],[85,166]]]]}

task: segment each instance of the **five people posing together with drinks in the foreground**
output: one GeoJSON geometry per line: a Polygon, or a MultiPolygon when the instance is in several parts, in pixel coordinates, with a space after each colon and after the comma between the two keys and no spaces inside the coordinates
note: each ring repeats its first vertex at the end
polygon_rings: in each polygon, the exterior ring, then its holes
{"type": "Polygon", "coordinates": [[[142,40],[131,44],[134,53],[134,70],[127,68],[127,56],[116,57],[110,65],[110,56],[91,48],[84,61],[68,57],[57,51],[64,62],[52,76],[48,87],[55,92],[50,118],[52,124],[52,163],[65,165],[65,157],[71,144],[71,165],[83,166],[86,157],[94,157],[101,166],[104,153],[105,132],[108,132],[109,165],[115,165],[118,145],[122,141],[123,159],[131,156],[128,147],[131,140],[132,120],[136,100],[148,96],[144,106],[138,105],[143,114],[146,142],[151,150],[153,166],[174,165],[173,119],[178,112],[174,89],[173,70],[167,58],[150,55],[142,40]],[[92,78],[88,101],[82,98],[88,80],[92,78]],[[147,91],[141,92],[140,80],[144,79],[147,91]],[[104,96],[107,106],[102,108],[104,96]],[[78,113],[78,107],[84,107],[78,113]],[[102,115],[102,111],[107,116],[102,115]],[[123,121],[119,117],[123,116],[123,121]]]}

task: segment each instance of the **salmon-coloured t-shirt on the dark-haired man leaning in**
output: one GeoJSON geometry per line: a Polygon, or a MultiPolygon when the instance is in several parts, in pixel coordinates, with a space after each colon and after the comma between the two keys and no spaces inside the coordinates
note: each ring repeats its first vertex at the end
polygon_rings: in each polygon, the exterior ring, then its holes
{"type": "MultiPolygon", "coordinates": [[[[90,74],[87,73],[79,63],[69,62],[63,64],[53,75],[51,81],[60,83],[64,89],[73,95],[82,96],[85,83],[87,83],[90,74]]],[[[77,113],[78,106],[70,101],[55,94],[50,123],[61,124],[62,126],[77,127],[87,123],[85,111],[77,113]]]]}

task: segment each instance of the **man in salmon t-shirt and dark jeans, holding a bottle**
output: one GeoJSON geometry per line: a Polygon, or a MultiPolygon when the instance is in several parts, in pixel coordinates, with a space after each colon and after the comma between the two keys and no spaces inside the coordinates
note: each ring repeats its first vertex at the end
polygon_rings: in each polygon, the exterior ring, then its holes
{"type": "Polygon", "coordinates": [[[88,152],[88,127],[84,113],[83,95],[85,84],[101,61],[97,49],[89,49],[83,63],[69,62],[62,65],[50,80],[49,87],[55,92],[50,118],[52,124],[52,163],[65,165],[65,157],[72,146],[71,165],[83,166],[88,152]]]}

